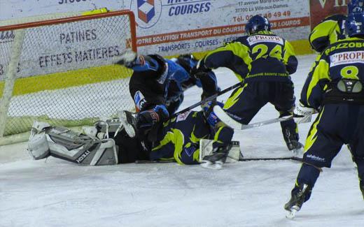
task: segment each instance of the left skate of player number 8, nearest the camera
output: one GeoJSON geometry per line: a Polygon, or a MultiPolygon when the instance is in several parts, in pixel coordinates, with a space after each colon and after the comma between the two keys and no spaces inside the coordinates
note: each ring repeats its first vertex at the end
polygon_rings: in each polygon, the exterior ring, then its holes
{"type": "Polygon", "coordinates": [[[295,213],[301,209],[309,191],[310,186],[308,184],[299,185],[299,190],[293,193],[288,203],[284,205],[284,209],[289,212],[286,214],[286,218],[293,219],[295,217],[295,213]]]}

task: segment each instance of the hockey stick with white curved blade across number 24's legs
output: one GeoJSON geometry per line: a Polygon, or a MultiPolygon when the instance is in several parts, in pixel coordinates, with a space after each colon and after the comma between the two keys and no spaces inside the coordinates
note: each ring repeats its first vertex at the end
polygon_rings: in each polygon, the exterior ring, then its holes
{"type": "Polygon", "coordinates": [[[274,119],[269,119],[269,120],[266,120],[263,122],[256,122],[253,124],[241,124],[241,123],[235,121],[235,119],[232,119],[232,117],[230,117],[219,105],[214,106],[214,113],[216,114],[216,116],[219,119],[221,119],[222,122],[224,122],[225,124],[230,126],[230,128],[237,129],[237,130],[252,129],[252,128],[260,127],[260,126],[267,125],[267,124],[273,124],[276,122],[284,122],[289,119],[293,119],[293,115],[289,115],[286,117],[277,117],[274,119]]]}

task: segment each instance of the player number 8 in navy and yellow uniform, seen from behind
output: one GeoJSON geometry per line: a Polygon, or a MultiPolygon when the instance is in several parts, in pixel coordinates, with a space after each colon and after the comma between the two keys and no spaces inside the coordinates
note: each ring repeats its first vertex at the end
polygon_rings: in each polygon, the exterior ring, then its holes
{"type": "Polygon", "coordinates": [[[348,15],[349,38],[329,45],[302,88],[296,111],[310,116],[318,111],[304,145],[302,167],[284,208],[294,217],[311,196],[321,168],[330,168],[342,145],[351,147],[364,196],[364,14],[348,15]],[[323,95],[322,95],[323,94],[323,95]]]}

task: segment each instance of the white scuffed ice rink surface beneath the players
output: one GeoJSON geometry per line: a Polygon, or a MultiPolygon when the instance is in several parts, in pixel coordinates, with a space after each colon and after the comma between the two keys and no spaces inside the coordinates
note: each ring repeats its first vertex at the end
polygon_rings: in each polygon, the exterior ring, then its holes
{"type": "MultiPolygon", "coordinates": [[[[314,57],[299,57],[296,96],[314,57]]],[[[226,69],[216,73],[222,88],[237,82],[226,69]]],[[[200,101],[200,93],[188,90],[181,108],[200,101]]],[[[277,116],[268,104],[252,122],[277,116]]],[[[301,142],[309,126],[300,125],[301,142]]],[[[279,124],[237,131],[235,139],[245,157],[291,156],[279,124]]],[[[299,168],[296,161],[244,161],[222,170],[176,163],[76,166],[52,157],[34,161],[25,143],[8,145],[0,147],[0,226],[364,226],[364,200],[346,147],[289,220],[283,205],[299,168]]]]}

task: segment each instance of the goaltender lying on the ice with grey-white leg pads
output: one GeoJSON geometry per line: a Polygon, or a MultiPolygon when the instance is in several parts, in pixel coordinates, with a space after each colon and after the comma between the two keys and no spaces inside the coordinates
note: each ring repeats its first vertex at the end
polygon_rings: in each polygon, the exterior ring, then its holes
{"type": "MultiPolygon", "coordinates": [[[[211,124],[216,122],[213,113],[184,112],[162,124],[155,142],[146,137],[130,138],[118,118],[96,122],[93,127],[85,128],[84,133],[35,122],[28,151],[34,159],[54,156],[90,166],[141,160],[197,164],[200,159],[200,142],[210,138],[211,124]]],[[[232,149],[231,155],[239,159],[239,149],[232,149]]]]}

